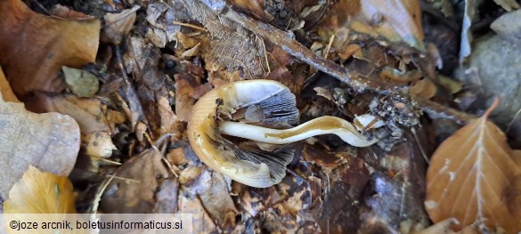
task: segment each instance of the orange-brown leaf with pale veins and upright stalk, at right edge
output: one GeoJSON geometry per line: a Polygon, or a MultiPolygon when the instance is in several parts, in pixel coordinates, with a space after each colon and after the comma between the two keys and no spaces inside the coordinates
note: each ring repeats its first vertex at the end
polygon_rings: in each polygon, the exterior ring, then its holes
{"type": "Polygon", "coordinates": [[[425,206],[433,222],[453,217],[460,222],[459,229],[484,224],[508,233],[521,230],[503,198],[503,190],[521,169],[504,133],[487,121],[498,103],[452,134],[431,158],[425,206]]]}

